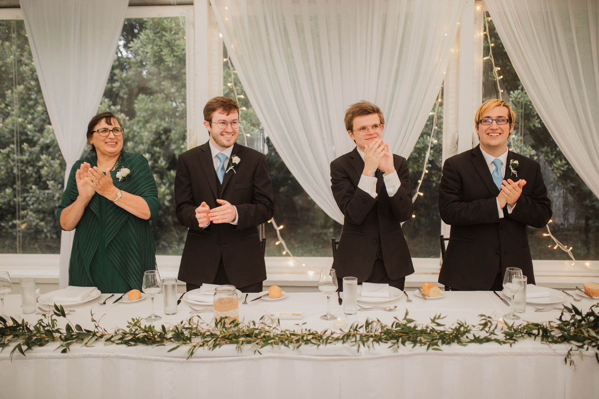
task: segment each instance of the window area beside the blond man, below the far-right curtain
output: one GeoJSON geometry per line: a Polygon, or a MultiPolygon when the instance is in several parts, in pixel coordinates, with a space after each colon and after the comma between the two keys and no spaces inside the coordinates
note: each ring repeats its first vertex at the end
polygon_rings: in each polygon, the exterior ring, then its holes
{"type": "MultiPolygon", "coordinates": [[[[580,179],[574,168],[565,159],[533,103],[512,62],[507,56],[492,20],[489,24],[493,58],[500,89],[493,74],[493,63],[487,59],[483,64],[483,100],[498,98],[499,90],[504,101],[509,102],[516,113],[516,123],[508,146],[515,152],[528,156],[541,165],[541,173],[549,192],[553,210],[551,232],[562,244],[573,247],[572,253],[579,260],[599,259],[599,200],[580,179]]],[[[485,56],[489,55],[489,44],[485,40],[485,56]]],[[[528,241],[533,259],[570,259],[562,250],[553,249],[555,243],[543,236],[546,228],[528,227],[528,241]]]]}

